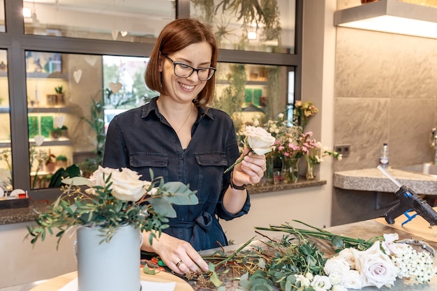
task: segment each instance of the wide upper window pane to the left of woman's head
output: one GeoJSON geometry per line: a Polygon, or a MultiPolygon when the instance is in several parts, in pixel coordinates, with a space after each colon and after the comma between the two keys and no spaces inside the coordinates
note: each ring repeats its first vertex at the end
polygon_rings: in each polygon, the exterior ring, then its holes
{"type": "Polygon", "coordinates": [[[27,34],[154,43],[172,19],[175,1],[23,0],[27,34]]]}

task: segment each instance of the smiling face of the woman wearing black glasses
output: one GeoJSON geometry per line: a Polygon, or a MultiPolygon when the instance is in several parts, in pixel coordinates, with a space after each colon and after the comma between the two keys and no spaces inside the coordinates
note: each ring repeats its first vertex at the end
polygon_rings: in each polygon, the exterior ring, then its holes
{"type": "MultiPolygon", "coordinates": [[[[206,43],[193,43],[183,50],[179,50],[168,57],[173,61],[188,64],[194,68],[211,66],[212,48],[206,43]]],[[[178,101],[187,102],[195,99],[208,81],[201,81],[198,73],[193,72],[190,77],[175,75],[175,66],[165,56],[161,55],[161,77],[163,89],[168,97],[178,101]]]]}

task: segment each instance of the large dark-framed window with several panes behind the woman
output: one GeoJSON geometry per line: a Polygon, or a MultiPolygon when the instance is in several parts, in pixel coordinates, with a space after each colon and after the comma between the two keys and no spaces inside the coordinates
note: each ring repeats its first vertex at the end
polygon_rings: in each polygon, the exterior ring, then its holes
{"type": "MultiPolygon", "coordinates": [[[[114,114],[156,96],[144,82],[156,36],[175,17],[201,18],[203,2],[211,1],[76,0],[67,5],[5,0],[0,151],[11,154],[0,168],[9,173],[3,176],[13,180],[12,187],[28,191],[34,200],[47,199],[60,194],[53,184],[59,169],[77,165],[84,175],[94,170],[114,114]],[[23,8],[30,17],[16,13],[23,8]]],[[[228,112],[237,126],[250,123],[253,114],[274,117],[299,98],[302,0],[269,2],[279,9],[276,30],[265,20],[251,29],[218,3],[217,17],[211,19],[214,31],[222,32],[214,106],[228,112]],[[236,101],[227,107],[230,99],[236,101]]]]}

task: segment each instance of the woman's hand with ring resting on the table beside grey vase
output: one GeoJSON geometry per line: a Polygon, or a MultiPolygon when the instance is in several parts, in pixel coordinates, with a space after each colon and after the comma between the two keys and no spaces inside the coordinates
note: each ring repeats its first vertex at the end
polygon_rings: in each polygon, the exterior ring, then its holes
{"type": "Polygon", "coordinates": [[[177,274],[187,274],[191,271],[200,273],[208,271],[208,264],[187,241],[177,239],[169,234],[161,233],[153,244],[149,244],[149,233],[143,232],[143,243],[141,249],[156,253],[164,264],[177,274]]]}

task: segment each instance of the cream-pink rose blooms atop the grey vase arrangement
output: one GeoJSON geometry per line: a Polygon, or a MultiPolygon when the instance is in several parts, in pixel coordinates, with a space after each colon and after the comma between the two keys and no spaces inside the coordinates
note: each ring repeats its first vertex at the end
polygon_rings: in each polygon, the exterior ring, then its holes
{"type": "MultiPolygon", "coordinates": [[[[108,167],[99,166],[96,172],[94,172],[89,178],[89,181],[91,182],[92,186],[105,187],[105,181],[108,179],[108,177],[110,177],[108,184],[112,183],[111,194],[118,200],[122,201],[135,202],[140,200],[140,198],[145,195],[147,191],[147,185],[150,185],[150,182],[140,180],[140,174],[126,167],[122,168],[120,171],[118,169],[110,169],[108,167]]],[[[89,190],[91,193],[95,191],[94,188],[87,190],[89,190]]]]}

